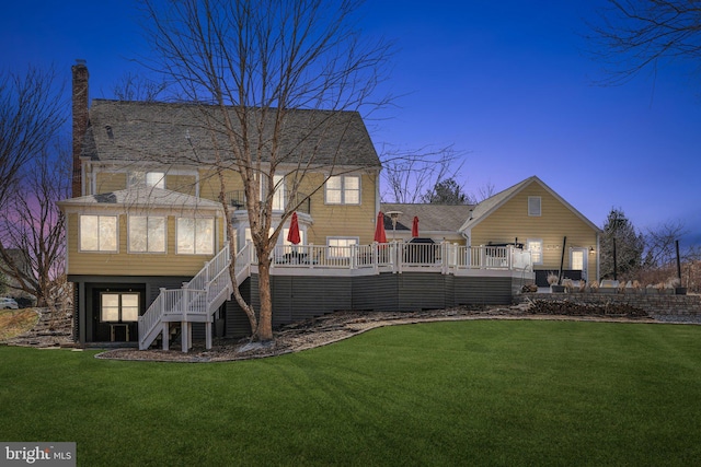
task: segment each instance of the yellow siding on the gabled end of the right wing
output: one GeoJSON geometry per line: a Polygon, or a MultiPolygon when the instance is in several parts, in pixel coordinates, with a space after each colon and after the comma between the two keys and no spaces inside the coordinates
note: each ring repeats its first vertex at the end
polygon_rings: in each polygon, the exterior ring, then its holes
{"type": "MultiPolygon", "coordinates": [[[[510,243],[518,238],[519,243],[525,244],[528,238],[540,238],[543,242],[543,264],[535,268],[558,270],[565,236],[567,242],[563,267],[571,269],[570,248],[596,248],[596,231],[542,186],[533,183],[472,229],[471,243],[472,246],[479,246],[490,242],[510,243]],[[528,215],[529,196],[541,197],[540,217],[528,215]]],[[[596,255],[587,255],[587,280],[596,280],[596,255]]]]}

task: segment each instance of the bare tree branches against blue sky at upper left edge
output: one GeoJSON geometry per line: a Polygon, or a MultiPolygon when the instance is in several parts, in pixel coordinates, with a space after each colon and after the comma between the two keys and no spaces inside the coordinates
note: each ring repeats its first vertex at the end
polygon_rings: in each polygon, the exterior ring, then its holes
{"type": "Polygon", "coordinates": [[[0,72],[0,209],[20,170],[48,147],[66,121],[65,108],[53,69],[0,72]]]}

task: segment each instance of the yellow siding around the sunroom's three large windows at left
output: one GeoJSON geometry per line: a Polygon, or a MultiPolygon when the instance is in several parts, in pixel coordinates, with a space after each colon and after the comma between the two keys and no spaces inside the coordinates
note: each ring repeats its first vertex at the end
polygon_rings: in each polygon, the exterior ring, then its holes
{"type": "MultiPolygon", "coordinates": [[[[223,222],[217,220],[217,249],[223,246],[223,222]]],[[[175,218],[168,218],[168,253],[127,253],[127,217],[119,215],[119,252],[81,253],[78,214],[68,214],[68,273],[85,276],[195,276],[212,255],[175,254],[175,218]]],[[[215,252],[215,253],[216,253],[215,252]]]]}

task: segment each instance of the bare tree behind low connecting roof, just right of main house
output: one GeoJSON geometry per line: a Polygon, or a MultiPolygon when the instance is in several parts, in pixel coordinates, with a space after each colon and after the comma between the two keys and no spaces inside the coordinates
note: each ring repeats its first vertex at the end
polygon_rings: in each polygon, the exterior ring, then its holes
{"type": "Polygon", "coordinates": [[[404,151],[382,151],[383,202],[420,202],[426,187],[435,187],[447,178],[457,178],[464,154],[452,145],[404,151]]]}

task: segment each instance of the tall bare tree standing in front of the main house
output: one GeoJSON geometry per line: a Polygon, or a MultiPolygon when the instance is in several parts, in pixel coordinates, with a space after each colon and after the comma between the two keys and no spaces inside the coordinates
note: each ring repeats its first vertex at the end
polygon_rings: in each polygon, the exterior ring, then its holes
{"type": "MultiPolygon", "coordinates": [[[[294,129],[298,145],[338,126],[340,110],[365,109],[382,79],[389,45],[361,40],[354,15],[356,1],[327,0],[146,0],[146,31],[157,62],[183,100],[206,103],[203,127],[216,149],[220,199],[232,252],[235,236],[225,202],[226,175],[240,177],[253,246],[258,258],[260,311],[234,296],[251,323],[253,338],[273,339],[269,282],[271,252],[283,223],[299,203],[288,205],[273,229],[275,174],[286,164],[290,199],[296,199],[318,154],[287,152],[294,109],[323,109],[294,129]]],[[[334,173],[333,164],[325,167],[334,173]]],[[[318,185],[315,190],[323,187],[318,185]]],[[[312,190],[314,191],[314,190],[312,190]]],[[[311,194],[310,194],[311,195],[311,194]]],[[[299,200],[299,202],[302,202],[299,200]]],[[[235,283],[234,265],[231,265],[235,283]]]]}

